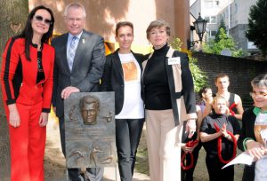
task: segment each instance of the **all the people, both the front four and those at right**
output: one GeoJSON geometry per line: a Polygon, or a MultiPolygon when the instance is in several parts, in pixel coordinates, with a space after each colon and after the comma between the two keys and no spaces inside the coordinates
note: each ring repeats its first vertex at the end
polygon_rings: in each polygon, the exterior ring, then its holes
{"type": "MultiPolygon", "coordinates": [[[[53,12],[40,5],[29,13],[22,33],[6,43],[1,84],[10,130],[12,181],[44,181],[45,126],[51,103],[60,120],[61,147],[65,154],[63,102],[76,92],[115,91],[117,158],[123,181],[132,180],[144,120],[152,181],[181,180],[181,150],[185,153],[199,151],[200,140],[206,149],[211,180],[220,180],[217,174],[222,174],[219,168],[223,164],[214,147],[218,138],[222,140],[223,159],[231,157],[228,151],[233,152],[233,143],[239,134],[238,145],[244,146],[242,149],[247,149],[257,159],[263,157],[263,140],[258,134],[254,135],[252,128],[246,127],[250,125],[247,122],[251,122],[247,114],[243,115],[240,132],[237,119],[242,118],[242,103],[239,96],[232,96],[224,85],[227,81],[229,85],[228,76],[216,79],[218,93],[212,102],[206,95],[211,90],[201,93],[206,108],[203,110],[202,104],[196,110],[188,56],[168,45],[171,28],[165,20],[150,22],[146,34],[154,51],[146,56],[131,51],[134,25],[128,21],[118,22],[115,38],[119,48],[106,57],[104,39],[84,29],[85,17],[82,4],[68,4],[64,11],[68,33],[53,38],[49,45],[48,40],[53,35],[53,12]],[[229,99],[235,103],[231,112],[227,108],[229,99]],[[214,108],[211,115],[210,105],[214,108]],[[202,114],[206,116],[204,119],[202,114]],[[188,140],[196,138],[198,144],[193,148],[183,145],[182,135],[188,140]]],[[[265,79],[266,76],[253,82],[254,99],[267,95],[265,79]]],[[[257,125],[264,121],[265,106],[263,101],[255,100],[256,109],[249,113],[249,116],[257,113],[254,116],[257,125]]],[[[263,163],[255,164],[258,170],[255,173],[262,173],[263,163]]],[[[85,178],[98,181],[102,180],[103,168],[87,168],[85,176],[78,168],[68,169],[68,173],[71,181],[85,178]]],[[[186,171],[185,175],[192,179],[192,173],[193,170],[186,171]]],[[[226,180],[231,180],[233,168],[225,169],[225,173],[226,180]]]]}

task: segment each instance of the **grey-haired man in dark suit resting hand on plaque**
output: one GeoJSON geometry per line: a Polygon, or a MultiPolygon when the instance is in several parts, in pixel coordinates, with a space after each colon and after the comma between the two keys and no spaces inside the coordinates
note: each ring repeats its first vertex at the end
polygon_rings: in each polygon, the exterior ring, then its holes
{"type": "MultiPolygon", "coordinates": [[[[73,92],[99,91],[105,64],[103,38],[85,31],[85,8],[82,4],[67,5],[65,23],[69,33],[53,39],[55,48],[53,109],[60,120],[61,146],[65,154],[63,101],[73,92]]],[[[103,169],[86,169],[91,181],[102,180],[103,169]]],[[[71,181],[83,181],[78,169],[68,169],[71,181]]]]}

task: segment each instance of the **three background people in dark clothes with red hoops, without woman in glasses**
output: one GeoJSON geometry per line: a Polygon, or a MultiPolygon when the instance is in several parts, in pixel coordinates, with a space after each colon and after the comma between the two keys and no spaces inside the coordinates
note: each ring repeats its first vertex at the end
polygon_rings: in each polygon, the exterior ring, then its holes
{"type": "Polygon", "coordinates": [[[242,115],[242,102],[237,94],[228,91],[230,85],[228,75],[217,75],[215,85],[218,91],[214,97],[209,87],[204,87],[199,91],[198,131],[193,137],[197,142],[193,146],[188,146],[186,143],[191,140],[186,138],[186,134],[183,137],[182,151],[187,153],[187,156],[182,163],[192,162],[192,166],[190,169],[182,170],[182,180],[193,180],[193,172],[201,146],[206,150],[206,169],[209,180],[233,180],[234,178],[233,166],[222,168],[235,156],[240,127],[239,121],[233,115],[242,115]],[[230,111],[229,103],[235,105],[233,111],[230,111]]]}

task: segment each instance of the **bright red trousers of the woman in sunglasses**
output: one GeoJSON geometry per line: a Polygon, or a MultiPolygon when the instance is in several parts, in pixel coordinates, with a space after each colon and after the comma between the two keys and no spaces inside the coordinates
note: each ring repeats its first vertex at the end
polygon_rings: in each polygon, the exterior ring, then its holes
{"type": "MultiPolygon", "coordinates": [[[[16,104],[20,127],[9,126],[11,181],[44,181],[46,127],[39,126],[42,102],[34,106],[16,104]]],[[[9,111],[5,106],[7,120],[9,111]]],[[[9,122],[9,121],[8,121],[9,122]]]]}

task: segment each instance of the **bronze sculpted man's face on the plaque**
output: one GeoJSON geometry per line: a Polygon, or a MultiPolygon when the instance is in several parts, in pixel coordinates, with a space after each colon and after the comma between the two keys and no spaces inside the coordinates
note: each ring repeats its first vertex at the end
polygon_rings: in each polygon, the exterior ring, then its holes
{"type": "Polygon", "coordinates": [[[93,96],[85,96],[80,99],[80,111],[84,120],[84,124],[96,124],[96,118],[99,113],[100,101],[93,96]]]}

